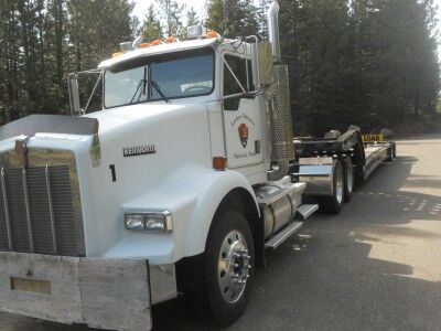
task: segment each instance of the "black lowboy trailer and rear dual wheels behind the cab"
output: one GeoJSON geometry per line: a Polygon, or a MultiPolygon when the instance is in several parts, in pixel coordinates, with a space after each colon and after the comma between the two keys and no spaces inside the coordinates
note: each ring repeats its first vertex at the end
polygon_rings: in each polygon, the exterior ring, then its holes
{"type": "Polygon", "coordinates": [[[379,141],[370,137],[349,129],[332,138],[295,139],[295,161],[290,174],[306,183],[306,197],[319,202],[326,212],[337,214],[343,200],[351,201],[357,184],[367,180],[379,164],[396,157],[395,142],[385,141],[381,135],[375,136],[379,141]]]}

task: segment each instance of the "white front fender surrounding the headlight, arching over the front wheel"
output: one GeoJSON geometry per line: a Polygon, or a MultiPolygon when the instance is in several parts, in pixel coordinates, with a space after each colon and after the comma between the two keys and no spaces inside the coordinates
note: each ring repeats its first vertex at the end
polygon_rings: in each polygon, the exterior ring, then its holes
{"type": "Polygon", "coordinates": [[[234,189],[246,190],[256,204],[247,179],[236,171],[214,171],[198,164],[178,168],[158,188],[123,205],[123,212],[164,209],[172,212],[171,234],[125,232],[119,243],[105,253],[108,258],[147,258],[151,264],[176,263],[205,252],[214,215],[234,189]],[[148,255],[147,255],[148,254],[148,255]]]}

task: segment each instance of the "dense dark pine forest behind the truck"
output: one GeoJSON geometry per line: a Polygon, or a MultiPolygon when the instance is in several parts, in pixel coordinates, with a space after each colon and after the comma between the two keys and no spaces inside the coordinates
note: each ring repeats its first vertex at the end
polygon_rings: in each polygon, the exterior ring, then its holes
{"type": "MultiPolygon", "coordinates": [[[[205,25],[227,38],[266,38],[270,1],[256,8],[251,0],[208,0],[205,25]]],[[[349,124],[367,131],[433,114],[440,89],[433,0],[279,3],[297,134],[349,124]]],[[[157,4],[161,15],[149,9],[144,39],[182,35],[184,8],[176,0],[157,4]]],[[[66,113],[66,74],[96,67],[133,40],[140,31],[132,10],[129,0],[0,0],[0,122],[66,113]]],[[[201,21],[193,8],[186,21],[201,21]]]]}

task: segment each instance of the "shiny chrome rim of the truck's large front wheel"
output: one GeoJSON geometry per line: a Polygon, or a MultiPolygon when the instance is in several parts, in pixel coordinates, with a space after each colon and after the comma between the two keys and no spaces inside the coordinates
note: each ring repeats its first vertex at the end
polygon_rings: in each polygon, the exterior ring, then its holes
{"type": "Polygon", "coordinates": [[[245,236],[237,229],[224,238],[217,267],[219,291],[228,303],[240,300],[248,284],[251,257],[245,236]]]}

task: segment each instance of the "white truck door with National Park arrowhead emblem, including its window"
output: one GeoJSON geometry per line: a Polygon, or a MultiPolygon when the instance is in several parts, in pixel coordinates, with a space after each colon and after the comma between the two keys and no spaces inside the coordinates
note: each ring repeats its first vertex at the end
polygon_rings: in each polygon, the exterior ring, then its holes
{"type": "Polygon", "coordinates": [[[238,54],[224,54],[223,107],[228,168],[263,161],[261,97],[255,90],[251,61],[238,54]]]}

